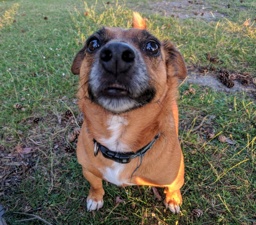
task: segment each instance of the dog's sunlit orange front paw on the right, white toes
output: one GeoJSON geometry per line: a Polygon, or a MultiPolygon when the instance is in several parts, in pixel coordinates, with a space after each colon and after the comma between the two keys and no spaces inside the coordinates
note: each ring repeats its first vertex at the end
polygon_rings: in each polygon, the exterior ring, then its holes
{"type": "Polygon", "coordinates": [[[168,208],[172,213],[179,213],[180,212],[180,205],[182,204],[182,197],[180,190],[169,192],[165,190],[164,193],[166,194],[164,204],[165,207],[168,208]]]}

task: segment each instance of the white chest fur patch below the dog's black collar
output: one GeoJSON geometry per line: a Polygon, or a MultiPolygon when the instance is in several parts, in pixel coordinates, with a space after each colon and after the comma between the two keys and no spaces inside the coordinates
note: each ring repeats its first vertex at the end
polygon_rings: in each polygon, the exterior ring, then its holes
{"type": "Polygon", "coordinates": [[[123,171],[124,166],[124,164],[114,162],[111,167],[107,167],[105,170],[101,170],[104,179],[119,186],[125,184],[133,185],[128,179],[119,176],[120,173],[123,171]]]}

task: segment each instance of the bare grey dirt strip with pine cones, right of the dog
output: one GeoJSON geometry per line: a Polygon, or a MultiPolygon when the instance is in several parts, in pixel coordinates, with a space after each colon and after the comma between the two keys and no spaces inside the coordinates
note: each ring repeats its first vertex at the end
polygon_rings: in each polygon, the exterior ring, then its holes
{"type": "Polygon", "coordinates": [[[215,90],[218,91],[224,91],[224,92],[242,92],[245,91],[249,93],[252,97],[256,97],[256,87],[254,84],[249,84],[248,86],[242,85],[239,81],[234,81],[235,85],[233,88],[228,88],[218,79],[216,78],[216,75],[214,74],[206,74],[202,75],[201,73],[197,73],[194,71],[188,72],[188,77],[185,80],[185,83],[191,83],[191,84],[199,84],[200,86],[208,86],[212,87],[215,90]]]}

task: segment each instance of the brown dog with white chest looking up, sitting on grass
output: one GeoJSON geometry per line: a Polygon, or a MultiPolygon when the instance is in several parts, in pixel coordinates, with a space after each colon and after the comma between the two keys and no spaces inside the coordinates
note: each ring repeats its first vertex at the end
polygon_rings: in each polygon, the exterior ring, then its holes
{"type": "Polygon", "coordinates": [[[164,204],[178,213],[184,164],[178,141],[177,80],[187,69],[134,13],[133,28],[102,28],[75,56],[84,123],[77,157],[91,188],[87,210],[103,206],[102,179],[119,186],[165,187],[164,204]]]}

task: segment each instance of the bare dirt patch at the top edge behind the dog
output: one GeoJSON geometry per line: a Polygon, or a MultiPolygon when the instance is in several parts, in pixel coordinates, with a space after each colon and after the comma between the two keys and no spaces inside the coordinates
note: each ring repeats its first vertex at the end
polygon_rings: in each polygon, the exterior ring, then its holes
{"type": "Polygon", "coordinates": [[[209,4],[205,4],[203,1],[198,1],[191,4],[187,0],[181,1],[158,1],[150,5],[138,6],[137,9],[140,12],[146,13],[159,13],[160,15],[167,17],[179,17],[179,18],[201,18],[203,20],[211,21],[222,18],[225,15],[214,10],[209,4]]]}

